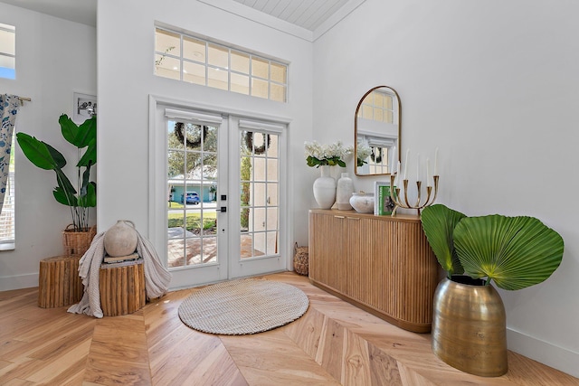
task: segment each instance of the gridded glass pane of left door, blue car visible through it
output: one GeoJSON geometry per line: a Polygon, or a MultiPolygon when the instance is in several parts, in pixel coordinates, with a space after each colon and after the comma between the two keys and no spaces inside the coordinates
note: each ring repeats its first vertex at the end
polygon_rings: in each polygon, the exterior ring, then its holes
{"type": "Polygon", "coordinates": [[[217,262],[217,127],[167,124],[168,267],[217,262]]]}

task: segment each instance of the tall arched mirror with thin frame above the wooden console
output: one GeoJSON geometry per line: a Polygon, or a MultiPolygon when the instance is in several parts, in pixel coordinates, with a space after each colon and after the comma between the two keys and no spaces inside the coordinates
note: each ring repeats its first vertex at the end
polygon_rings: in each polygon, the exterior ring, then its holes
{"type": "Polygon", "coordinates": [[[356,175],[390,174],[400,160],[401,106],[391,87],[368,90],[354,118],[356,175]]]}

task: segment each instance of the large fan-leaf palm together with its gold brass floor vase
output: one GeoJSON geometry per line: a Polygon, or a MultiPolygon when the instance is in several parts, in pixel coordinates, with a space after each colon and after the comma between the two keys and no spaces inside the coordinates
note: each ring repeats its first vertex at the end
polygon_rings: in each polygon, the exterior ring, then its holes
{"type": "Polygon", "coordinates": [[[467,217],[436,204],[421,219],[447,273],[434,293],[432,351],[464,372],[506,373],[506,313],[494,286],[517,290],[545,281],[561,264],[563,239],[528,216],[467,217]]]}

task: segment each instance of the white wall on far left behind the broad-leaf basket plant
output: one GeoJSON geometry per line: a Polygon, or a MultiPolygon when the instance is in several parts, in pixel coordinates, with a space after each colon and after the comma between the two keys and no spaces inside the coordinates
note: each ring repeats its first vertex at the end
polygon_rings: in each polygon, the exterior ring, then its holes
{"type": "MultiPolygon", "coordinates": [[[[20,108],[16,130],[76,160],[58,118],[72,116],[73,92],[96,94],[95,28],[5,4],[0,23],[16,27],[16,80],[0,79],[0,92],[32,99],[20,108]]],[[[39,261],[62,255],[62,230],[71,223],[69,208],[52,197],[55,174],[32,165],[15,147],[16,249],[0,251],[0,291],[38,286],[39,261]]]]}

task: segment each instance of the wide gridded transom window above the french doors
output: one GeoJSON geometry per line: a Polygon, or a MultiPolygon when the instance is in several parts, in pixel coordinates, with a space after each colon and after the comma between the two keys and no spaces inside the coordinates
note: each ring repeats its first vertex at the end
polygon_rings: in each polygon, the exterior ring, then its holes
{"type": "Polygon", "coordinates": [[[155,74],[214,89],[286,102],[288,65],[157,27],[155,74]]]}

